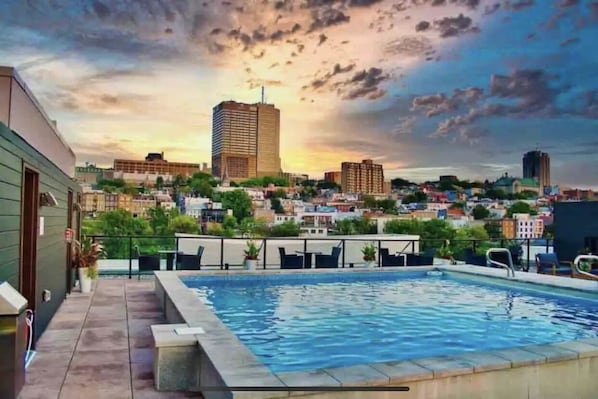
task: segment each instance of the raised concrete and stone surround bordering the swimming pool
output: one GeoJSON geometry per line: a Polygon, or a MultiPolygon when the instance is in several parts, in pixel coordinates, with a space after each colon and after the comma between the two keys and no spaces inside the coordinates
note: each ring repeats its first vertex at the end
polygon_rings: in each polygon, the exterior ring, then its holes
{"type": "MultiPolygon", "coordinates": [[[[535,284],[598,293],[592,281],[565,279],[518,272],[505,279],[506,271],[477,266],[400,267],[372,269],[371,272],[445,270],[490,278],[504,283],[535,284]],[[498,280],[501,281],[501,280],[498,280]]],[[[365,269],[216,271],[200,275],[351,273],[365,269]]],[[[156,295],[169,323],[201,327],[196,335],[200,351],[199,382],[191,390],[209,387],[268,386],[278,391],[231,390],[204,392],[206,398],[595,398],[598,392],[598,338],[529,345],[455,356],[437,356],[409,361],[384,362],[338,368],[273,373],[205,306],[179,276],[197,272],[157,272],[156,295]],[[198,385],[199,384],[199,385],[198,385]],[[409,392],[305,392],[300,387],[351,387],[405,385],[409,392]],[[290,387],[297,388],[291,390],[290,387]],[[287,389],[285,389],[287,388],[287,389]]],[[[544,287],[545,288],[545,287],[544,287]]],[[[598,296],[596,296],[598,298],[598,296]]]]}

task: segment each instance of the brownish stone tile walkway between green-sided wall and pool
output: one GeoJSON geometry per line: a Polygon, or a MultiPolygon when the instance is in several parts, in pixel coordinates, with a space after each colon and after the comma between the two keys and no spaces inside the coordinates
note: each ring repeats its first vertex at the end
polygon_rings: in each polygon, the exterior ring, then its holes
{"type": "Polygon", "coordinates": [[[100,279],[91,294],[71,294],[39,339],[19,398],[201,398],[154,389],[150,326],[165,321],[153,287],[100,279]]]}

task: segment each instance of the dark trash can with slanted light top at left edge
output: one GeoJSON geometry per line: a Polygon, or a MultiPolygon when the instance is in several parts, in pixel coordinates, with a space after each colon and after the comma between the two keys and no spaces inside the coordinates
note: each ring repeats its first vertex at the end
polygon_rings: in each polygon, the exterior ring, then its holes
{"type": "Polygon", "coordinates": [[[16,398],[25,384],[27,300],[0,283],[0,398],[16,398]]]}

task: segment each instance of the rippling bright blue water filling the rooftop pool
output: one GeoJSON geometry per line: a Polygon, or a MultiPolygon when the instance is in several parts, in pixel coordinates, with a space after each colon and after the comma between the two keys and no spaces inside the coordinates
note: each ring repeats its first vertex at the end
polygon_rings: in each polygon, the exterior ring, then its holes
{"type": "Polygon", "coordinates": [[[415,273],[187,277],[272,371],[598,336],[598,300],[415,273]]]}

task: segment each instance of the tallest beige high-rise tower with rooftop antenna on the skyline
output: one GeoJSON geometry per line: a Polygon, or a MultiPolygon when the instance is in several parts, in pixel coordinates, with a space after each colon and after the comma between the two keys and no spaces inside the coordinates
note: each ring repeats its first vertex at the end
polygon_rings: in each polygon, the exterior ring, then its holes
{"type": "Polygon", "coordinates": [[[235,101],[215,106],[212,173],[231,180],[279,176],[280,110],[272,104],[235,101]]]}

